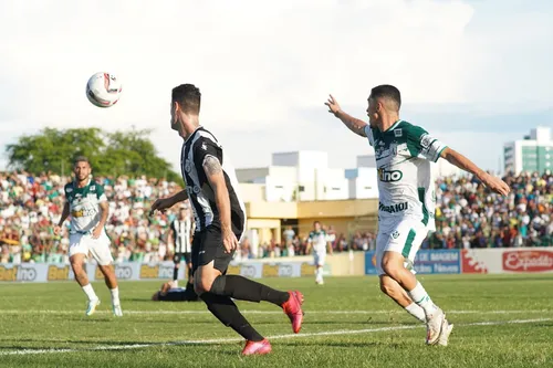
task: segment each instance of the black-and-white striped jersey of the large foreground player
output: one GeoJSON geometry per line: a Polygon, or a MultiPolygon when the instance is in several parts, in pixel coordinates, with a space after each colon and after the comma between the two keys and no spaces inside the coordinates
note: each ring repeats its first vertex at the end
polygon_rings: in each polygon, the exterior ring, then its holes
{"type": "Polygon", "coordinates": [[[228,155],[223,155],[222,146],[216,137],[201,126],[185,140],[180,154],[180,170],[192,206],[196,232],[209,225],[219,229],[221,227],[213,189],[204,170],[204,160],[208,156],[216,157],[221,164],[230,197],[231,227],[237,238],[240,239],[246,230],[246,210],[238,192],[234,167],[228,155]]]}

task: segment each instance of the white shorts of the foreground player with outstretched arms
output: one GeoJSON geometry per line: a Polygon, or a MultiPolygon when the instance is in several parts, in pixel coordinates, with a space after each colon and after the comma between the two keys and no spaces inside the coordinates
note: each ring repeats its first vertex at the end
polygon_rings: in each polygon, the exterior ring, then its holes
{"type": "Polygon", "coordinates": [[[394,223],[379,223],[376,236],[376,271],[384,275],[382,260],[384,252],[397,252],[405,257],[405,266],[413,273],[415,255],[428,234],[428,228],[420,220],[403,219],[394,223]]]}

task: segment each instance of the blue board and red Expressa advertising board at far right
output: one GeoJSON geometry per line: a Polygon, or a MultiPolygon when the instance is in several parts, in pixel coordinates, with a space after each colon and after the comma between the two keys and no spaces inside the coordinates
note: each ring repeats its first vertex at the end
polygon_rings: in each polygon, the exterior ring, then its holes
{"type": "MultiPolygon", "coordinates": [[[[553,272],[553,248],[420,250],[418,274],[553,272]]],[[[365,253],[365,274],[376,274],[375,252],[365,253]]]]}

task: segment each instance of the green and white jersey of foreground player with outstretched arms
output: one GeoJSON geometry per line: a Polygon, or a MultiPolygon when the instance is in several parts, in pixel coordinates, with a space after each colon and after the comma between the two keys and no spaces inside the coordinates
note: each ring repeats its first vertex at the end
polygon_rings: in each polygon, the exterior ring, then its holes
{"type": "Polygon", "coordinates": [[[447,146],[404,120],[386,132],[367,125],[365,133],[375,148],[378,168],[379,221],[417,219],[435,230],[436,192],[430,161],[436,162],[447,146]]]}

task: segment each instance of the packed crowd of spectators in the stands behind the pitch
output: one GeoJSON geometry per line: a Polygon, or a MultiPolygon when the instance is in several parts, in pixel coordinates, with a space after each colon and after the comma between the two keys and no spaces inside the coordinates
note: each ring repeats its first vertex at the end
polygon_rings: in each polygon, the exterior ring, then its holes
{"type": "MultiPolygon", "coordinates": [[[[53,224],[60,220],[63,186],[71,180],[58,175],[0,174],[0,263],[69,262],[69,221],[60,236],[53,224]]],[[[153,200],[181,188],[175,182],[146,177],[96,178],[109,200],[107,233],[116,262],[163,261],[173,256],[167,244],[175,210],[146,215],[153,200]]],[[[507,198],[490,193],[470,177],[448,177],[437,181],[436,232],[422,248],[499,248],[553,245],[553,176],[550,172],[508,175],[512,192],[507,198]]],[[[259,257],[305,254],[306,229],[288,228],[282,246],[261,244],[259,257]]],[[[359,231],[349,238],[325,227],[335,252],[374,250],[375,234],[359,231]]],[[[244,239],[238,256],[252,257],[244,239]]]]}

